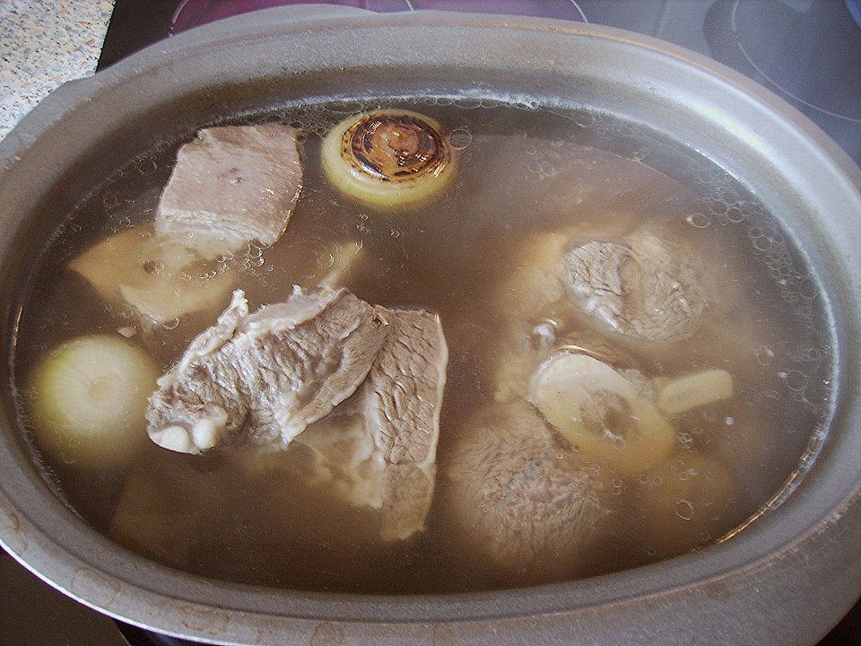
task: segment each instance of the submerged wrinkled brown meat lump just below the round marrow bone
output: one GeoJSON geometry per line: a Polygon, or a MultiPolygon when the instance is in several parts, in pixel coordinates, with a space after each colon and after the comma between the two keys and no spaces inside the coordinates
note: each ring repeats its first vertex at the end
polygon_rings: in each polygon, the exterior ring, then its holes
{"type": "Polygon", "coordinates": [[[526,579],[582,572],[611,519],[586,464],[557,448],[525,404],[485,409],[461,433],[448,501],[465,536],[526,579]]]}

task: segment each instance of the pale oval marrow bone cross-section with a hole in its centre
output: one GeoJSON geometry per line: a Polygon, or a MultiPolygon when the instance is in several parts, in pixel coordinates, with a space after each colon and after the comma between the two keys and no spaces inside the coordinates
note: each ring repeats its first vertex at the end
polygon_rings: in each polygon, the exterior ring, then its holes
{"type": "Polygon", "coordinates": [[[581,455],[619,476],[663,462],[675,431],[638,388],[587,354],[552,354],[535,371],[530,400],[581,455]]]}

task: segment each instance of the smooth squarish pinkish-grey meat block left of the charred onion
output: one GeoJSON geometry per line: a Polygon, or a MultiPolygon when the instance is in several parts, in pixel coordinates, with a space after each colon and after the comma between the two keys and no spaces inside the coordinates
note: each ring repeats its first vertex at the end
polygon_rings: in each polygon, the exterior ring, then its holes
{"type": "Polygon", "coordinates": [[[204,258],[278,240],[302,187],[297,131],[288,126],[201,130],[179,148],[161,195],[156,231],[204,258]]]}

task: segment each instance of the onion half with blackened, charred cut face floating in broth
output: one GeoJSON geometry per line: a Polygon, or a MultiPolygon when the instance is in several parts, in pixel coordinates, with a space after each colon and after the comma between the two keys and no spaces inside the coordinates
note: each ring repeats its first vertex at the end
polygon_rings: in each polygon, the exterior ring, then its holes
{"type": "Polygon", "coordinates": [[[345,195],[399,206],[438,194],[456,159],[439,123],[409,110],[378,110],[345,119],[323,141],[323,170],[345,195]]]}

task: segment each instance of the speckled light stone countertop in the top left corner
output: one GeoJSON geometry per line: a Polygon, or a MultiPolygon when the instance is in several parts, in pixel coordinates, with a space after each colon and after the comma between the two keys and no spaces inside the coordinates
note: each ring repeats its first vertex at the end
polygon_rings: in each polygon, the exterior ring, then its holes
{"type": "Polygon", "coordinates": [[[114,0],[0,0],[0,139],[40,100],[95,72],[114,0]]]}

